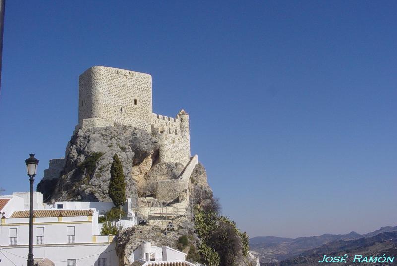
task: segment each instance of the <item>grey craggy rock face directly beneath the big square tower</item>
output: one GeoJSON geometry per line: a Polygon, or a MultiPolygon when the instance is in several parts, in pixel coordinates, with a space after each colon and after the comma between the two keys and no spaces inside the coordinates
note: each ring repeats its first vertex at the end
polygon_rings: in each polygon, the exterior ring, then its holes
{"type": "Polygon", "coordinates": [[[126,196],[136,202],[137,182],[150,171],[158,144],[144,130],[115,124],[80,129],[71,137],[65,153],[66,164],[55,189],[46,186],[45,181],[38,185],[38,190],[49,195],[51,202],[111,201],[108,186],[114,154],[123,164],[126,196]]]}

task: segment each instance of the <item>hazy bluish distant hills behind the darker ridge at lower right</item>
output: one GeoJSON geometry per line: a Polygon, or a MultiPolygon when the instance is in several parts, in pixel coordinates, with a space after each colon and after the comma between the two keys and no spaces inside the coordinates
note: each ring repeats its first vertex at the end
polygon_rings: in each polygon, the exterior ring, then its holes
{"type": "MultiPolygon", "coordinates": [[[[317,250],[317,248],[326,249],[327,245],[325,244],[329,244],[328,246],[330,247],[330,250],[328,251],[328,253],[323,253],[323,254],[331,254],[330,252],[339,252],[340,250],[343,251],[344,249],[341,249],[339,246],[342,243],[342,242],[339,243],[340,241],[344,241],[343,243],[345,243],[346,249],[359,250],[360,246],[359,245],[357,246],[357,243],[358,244],[361,243],[363,245],[366,241],[373,243],[371,241],[375,241],[377,237],[381,239],[382,237],[384,237],[382,233],[395,232],[395,231],[397,231],[397,226],[381,227],[379,230],[364,235],[360,235],[357,232],[353,231],[345,235],[324,234],[321,236],[298,237],[298,238],[285,238],[285,237],[274,237],[274,236],[254,237],[250,239],[250,249],[259,253],[261,265],[298,265],[296,264],[297,261],[294,261],[295,258],[298,258],[298,255],[304,257],[307,256],[308,260],[311,260],[312,258],[316,258],[320,260],[319,254],[320,252],[322,252],[322,250],[317,250]],[[357,243],[349,242],[354,240],[360,240],[360,241],[358,241],[357,243]],[[352,246],[350,248],[347,248],[347,246],[349,245],[352,246]],[[290,258],[292,259],[287,260],[290,258]],[[266,264],[262,264],[262,263],[266,263],[266,264]],[[290,263],[290,264],[283,264],[283,263],[290,263]]],[[[393,250],[393,245],[395,244],[396,243],[394,241],[390,241],[389,244],[385,244],[385,245],[393,250]]],[[[386,248],[386,246],[384,248],[386,248]]],[[[346,253],[348,252],[346,251],[342,255],[346,253]]],[[[383,253],[381,255],[383,255],[383,253]]],[[[301,265],[315,265],[315,264],[304,263],[301,265]]]]}

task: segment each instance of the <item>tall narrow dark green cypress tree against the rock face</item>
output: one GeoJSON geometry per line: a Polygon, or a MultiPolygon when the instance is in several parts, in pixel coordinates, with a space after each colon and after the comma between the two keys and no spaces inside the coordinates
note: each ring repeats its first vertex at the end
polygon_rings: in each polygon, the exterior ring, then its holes
{"type": "Polygon", "coordinates": [[[116,207],[120,207],[126,201],[126,182],[124,181],[123,165],[117,154],[113,156],[110,167],[109,196],[116,207]]]}

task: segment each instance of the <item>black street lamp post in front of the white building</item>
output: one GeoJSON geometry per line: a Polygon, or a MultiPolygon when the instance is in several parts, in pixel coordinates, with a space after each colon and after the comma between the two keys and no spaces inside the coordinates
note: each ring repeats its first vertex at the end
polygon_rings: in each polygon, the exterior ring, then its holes
{"type": "Polygon", "coordinates": [[[34,157],[34,154],[29,154],[30,158],[26,159],[26,167],[28,176],[30,177],[30,208],[29,208],[29,253],[28,266],[33,266],[33,182],[36,175],[37,165],[39,160],[34,157]]]}

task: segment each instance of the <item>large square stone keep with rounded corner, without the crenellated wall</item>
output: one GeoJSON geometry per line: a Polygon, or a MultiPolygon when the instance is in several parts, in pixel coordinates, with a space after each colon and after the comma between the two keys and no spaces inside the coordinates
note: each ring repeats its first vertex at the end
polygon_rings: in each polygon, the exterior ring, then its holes
{"type": "Polygon", "coordinates": [[[102,118],[150,132],[152,78],[112,67],[91,67],[79,77],[78,106],[80,125],[85,118],[102,118]]]}

